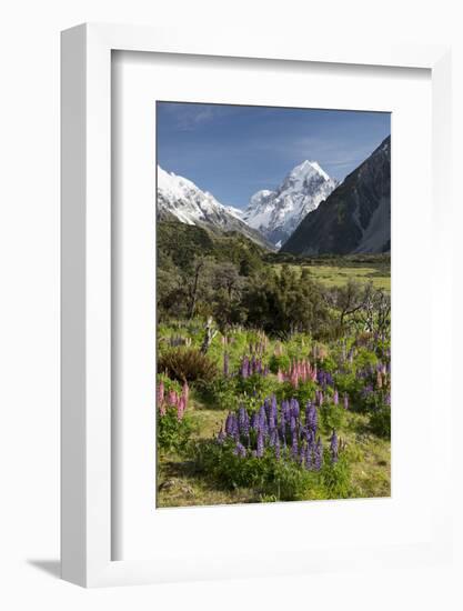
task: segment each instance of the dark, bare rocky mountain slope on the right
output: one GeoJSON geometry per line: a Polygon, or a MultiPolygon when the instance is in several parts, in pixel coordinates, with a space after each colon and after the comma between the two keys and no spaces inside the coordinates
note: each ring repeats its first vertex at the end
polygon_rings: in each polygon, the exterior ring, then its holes
{"type": "Polygon", "coordinates": [[[284,252],[302,256],[391,251],[391,137],[308,214],[284,252]]]}

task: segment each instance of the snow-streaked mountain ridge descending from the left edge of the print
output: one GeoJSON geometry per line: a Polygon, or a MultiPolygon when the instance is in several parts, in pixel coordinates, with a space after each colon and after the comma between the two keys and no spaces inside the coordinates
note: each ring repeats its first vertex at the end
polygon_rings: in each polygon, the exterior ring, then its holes
{"type": "Polygon", "coordinates": [[[212,193],[202,191],[194,182],[158,166],[157,216],[160,220],[177,220],[207,227],[213,231],[239,231],[254,242],[271,244],[242,218],[242,211],[223,206],[212,193]]]}

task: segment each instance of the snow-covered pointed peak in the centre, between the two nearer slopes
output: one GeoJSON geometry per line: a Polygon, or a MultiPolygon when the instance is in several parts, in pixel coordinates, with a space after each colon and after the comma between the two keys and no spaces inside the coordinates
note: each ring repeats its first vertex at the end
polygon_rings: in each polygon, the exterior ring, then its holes
{"type": "Polygon", "coordinates": [[[254,193],[242,218],[280,248],[336,184],[316,161],[305,160],[291,170],[275,191],[254,193]]]}

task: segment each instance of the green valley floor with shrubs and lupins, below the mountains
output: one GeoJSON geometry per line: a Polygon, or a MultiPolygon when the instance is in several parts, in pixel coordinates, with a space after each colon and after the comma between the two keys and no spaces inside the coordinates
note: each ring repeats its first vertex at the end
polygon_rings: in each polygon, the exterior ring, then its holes
{"type": "Polygon", "coordinates": [[[165,222],[157,299],[159,508],[390,495],[386,256],[165,222]]]}

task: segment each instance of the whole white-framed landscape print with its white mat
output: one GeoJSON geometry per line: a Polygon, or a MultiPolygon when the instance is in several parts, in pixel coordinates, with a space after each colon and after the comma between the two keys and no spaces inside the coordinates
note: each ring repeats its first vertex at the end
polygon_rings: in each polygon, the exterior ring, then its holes
{"type": "Polygon", "coordinates": [[[232,34],[62,33],[81,585],[450,554],[450,51],[232,34]]]}

